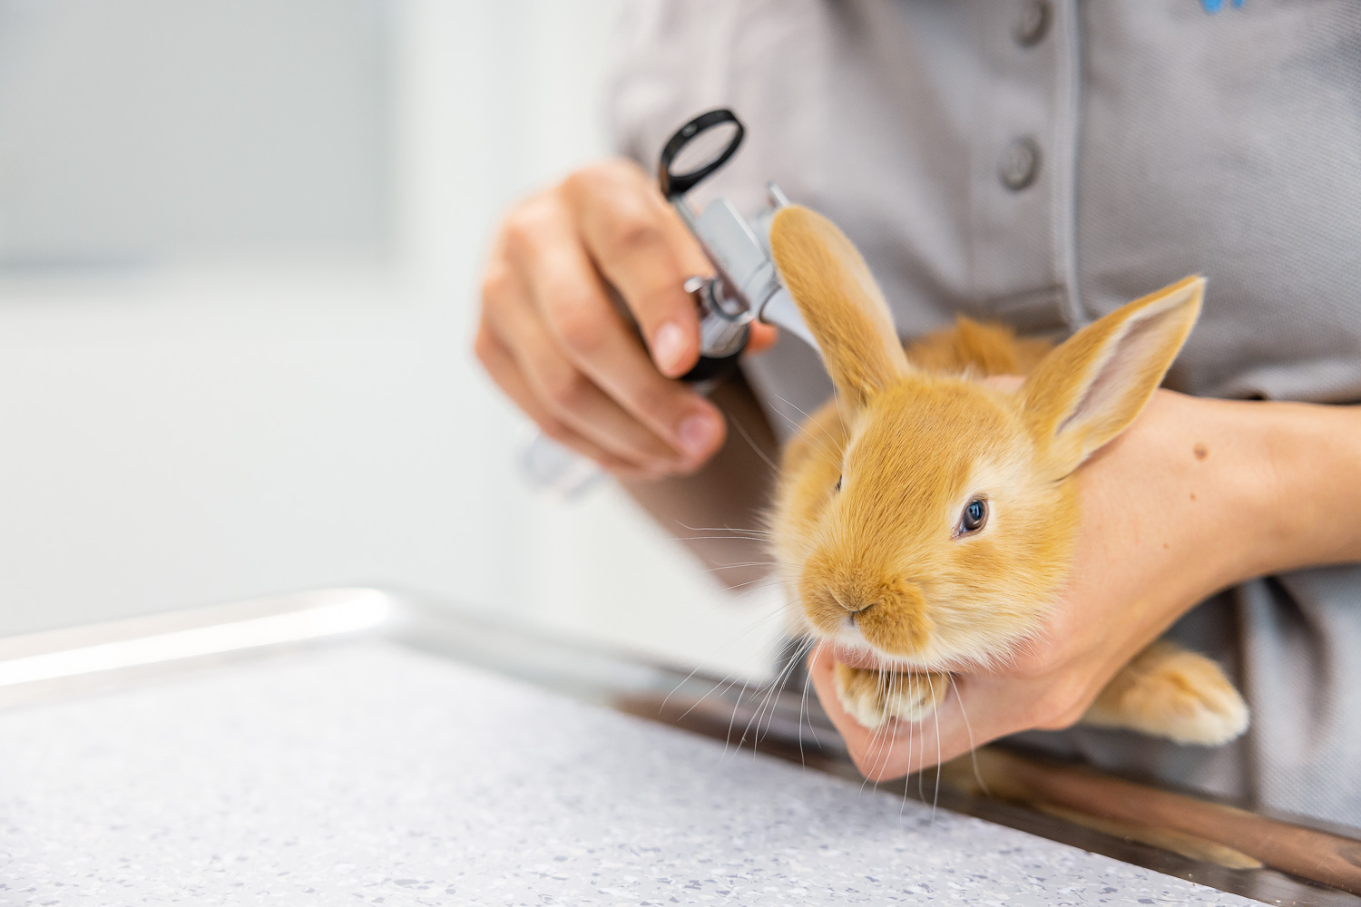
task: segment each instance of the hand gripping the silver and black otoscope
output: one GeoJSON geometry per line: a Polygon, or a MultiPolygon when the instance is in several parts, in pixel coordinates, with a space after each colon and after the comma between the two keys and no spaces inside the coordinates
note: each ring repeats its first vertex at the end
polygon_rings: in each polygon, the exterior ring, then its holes
{"type": "MultiPolygon", "coordinates": [[[[710,271],[637,165],[591,165],[502,220],[482,283],[476,356],[546,435],[604,469],[629,479],[694,472],[721,446],[724,423],[674,378],[694,366],[700,345],[682,286],[710,271]]],[[[773,336],[753,325],[749,348],[773,336]]]]}

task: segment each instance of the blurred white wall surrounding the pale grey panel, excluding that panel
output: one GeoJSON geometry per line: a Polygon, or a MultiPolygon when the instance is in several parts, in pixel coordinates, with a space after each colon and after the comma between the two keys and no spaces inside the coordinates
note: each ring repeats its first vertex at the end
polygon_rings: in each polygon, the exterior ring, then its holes
{"type": "Polygon", "coordinates": [[[0,272],[0,632],[373,582],[759,668],[769,597],[535,498],[468,355],[495,216],[604,150],[617,8],[393,7],[389,260],[0,272]]]}

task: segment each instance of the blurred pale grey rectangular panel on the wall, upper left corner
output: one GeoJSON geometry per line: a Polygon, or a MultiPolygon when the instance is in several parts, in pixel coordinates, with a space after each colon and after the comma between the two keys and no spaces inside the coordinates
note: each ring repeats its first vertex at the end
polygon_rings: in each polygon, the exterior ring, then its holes
{"type": "Polygon", "coordinates": [[[0,0],[0,261],[373,254],[384,0],[0,0]]]}

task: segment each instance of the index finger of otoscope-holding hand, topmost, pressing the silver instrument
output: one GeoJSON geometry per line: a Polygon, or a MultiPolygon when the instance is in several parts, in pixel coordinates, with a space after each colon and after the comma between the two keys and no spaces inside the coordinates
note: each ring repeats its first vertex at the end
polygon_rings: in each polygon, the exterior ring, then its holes
{"type": "Polygon", "coordinates": [[[694,239],[637,167],[584,170],[565,189],[592,261],[633,313],[657,370],[683,375],[700,356],[685,281],[709,272],[694,239]]]}

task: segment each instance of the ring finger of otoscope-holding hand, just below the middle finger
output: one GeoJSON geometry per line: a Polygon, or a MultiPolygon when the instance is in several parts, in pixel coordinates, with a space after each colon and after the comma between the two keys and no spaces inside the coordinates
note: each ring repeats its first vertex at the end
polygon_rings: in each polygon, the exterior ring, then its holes
{"type": "Polygon", "coordinates": [[[558,348],[519,292],[487,309],[487,320],[540,408],[612,457],[655,475],[678,466],[676,451],[607,397],[558,348]]]}

